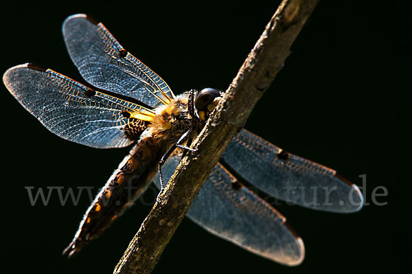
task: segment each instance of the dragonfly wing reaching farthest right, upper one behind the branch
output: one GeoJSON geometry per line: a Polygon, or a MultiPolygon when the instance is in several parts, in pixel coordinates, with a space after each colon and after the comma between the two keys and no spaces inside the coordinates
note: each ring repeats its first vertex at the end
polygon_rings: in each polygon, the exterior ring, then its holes
{"type": "Polygon", "coordinates": [[[244,179],[282,201],[327,212],[356,212],[363,206],[358,187],[335,170],[285,152],[242,129],[222,159],[244,179]]]}

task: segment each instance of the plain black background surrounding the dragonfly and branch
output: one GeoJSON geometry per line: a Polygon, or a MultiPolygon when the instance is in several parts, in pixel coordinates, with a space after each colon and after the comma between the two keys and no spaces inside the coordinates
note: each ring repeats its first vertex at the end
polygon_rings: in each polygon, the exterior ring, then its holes
{"type": "MultiPolygon", "coordinates": [[[[84,12],[102,21],[174,93],[226,89],[278,3],[8,1],[1,4],[0,71],[30,61],[82,81],[60,27],[67,16],[84,12]]],[[[398,165],[400,126],[410,127],[410,122],[403,124],[397,111],[410,91],[401,83],[407,55],[400,52],[410,45],[404,39],[410,35],[410,19],[401,15],[405,9],[391,1],[321,1],[246,124],[277,146],[328,165],[358,185],[359,175],[367,174],[366,202],[382,185],[388,196],[377,200],[387,205],[367,205],[348,215],[279,208],[306,244],[306,259],[295,268],[259,258],[185,219],[154,273],[374,271],[402,260],[405,235],[398,229],[402,219],[396,195],[407,181],[400,178],[398,165]]],[[[128,148],[98,150],[60,139],[5,87],[0,89],[2,265],[30,273],[111,273],[150,206],[138,203],[102,238],[67,260],[60,254],[89,198],[82,196],[78,206],[62,206],[55,193],[49,205],[31,206],[24,187],[93,186],[94,194],[128,148]]],[[[150,194],[145,198],[150,200],[150,194]]]]}

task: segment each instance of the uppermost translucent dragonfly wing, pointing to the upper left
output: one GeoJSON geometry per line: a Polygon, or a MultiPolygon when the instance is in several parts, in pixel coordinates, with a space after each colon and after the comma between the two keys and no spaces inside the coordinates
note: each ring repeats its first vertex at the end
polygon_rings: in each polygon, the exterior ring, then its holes
{"type": "Polygon", "coordinates": [[[102,23],[86,14],[75,14],[65,20],[62,32],[71,60],[93,86],[152,107],[174,98],[168,84],[126,52],[102,23]]]}

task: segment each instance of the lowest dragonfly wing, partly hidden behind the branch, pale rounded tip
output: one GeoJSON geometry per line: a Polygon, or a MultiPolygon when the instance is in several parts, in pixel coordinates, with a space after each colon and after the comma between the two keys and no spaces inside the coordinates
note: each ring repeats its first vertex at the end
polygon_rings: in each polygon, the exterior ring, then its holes
{"type": "MultiPolygon", "coordinates": [[[[175,155],[164,165],[165,178],[172,176],[179,160],[175,155]]],[[[153,180],[159,187],[159,177],[153,180]]],[[[219,163],[186,216],[210,233],[269,260],[290,266],[304,260],[304,243],[286,218],[219,163]]]]}

